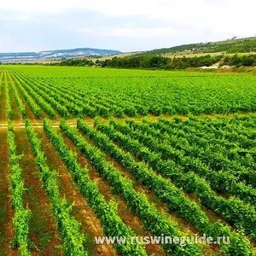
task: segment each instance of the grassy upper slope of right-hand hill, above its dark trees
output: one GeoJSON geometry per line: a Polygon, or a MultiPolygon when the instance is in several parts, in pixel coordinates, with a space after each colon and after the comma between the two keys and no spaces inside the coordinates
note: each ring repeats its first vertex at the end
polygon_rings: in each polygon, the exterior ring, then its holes
{"type": "Polygon", "coordinates": [[[218,42],[207,42],[198,44],[183,44],[171,48],[153,49],[143,52],[146,55],[163,55],[177,53],[250,53],[256,52],[256,37],[253,38],[231,38],[218,42]]]}

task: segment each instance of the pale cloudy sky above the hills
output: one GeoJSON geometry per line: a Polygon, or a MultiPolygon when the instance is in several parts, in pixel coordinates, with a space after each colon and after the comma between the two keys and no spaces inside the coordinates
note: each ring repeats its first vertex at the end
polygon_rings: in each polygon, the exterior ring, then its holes
{"type": "Polygon", "coordinates": [[[255,0],[0,1],[0,52],[127,52],[253,36],[255,9],[255,0]]]}

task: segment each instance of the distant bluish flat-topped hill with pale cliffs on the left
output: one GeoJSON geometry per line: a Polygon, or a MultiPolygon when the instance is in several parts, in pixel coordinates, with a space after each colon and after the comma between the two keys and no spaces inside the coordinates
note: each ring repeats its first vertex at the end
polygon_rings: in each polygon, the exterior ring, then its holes
{"type": "Polygon", "coordinates": [[[108,55],[119,55],[119,50],[113,49],[56,49],[41,52],[20,52],[20,53],[0,53],[1,62],[36,62],[48,60],[60,60],[63,58],[76,57],[102,57],[108,55]]]}

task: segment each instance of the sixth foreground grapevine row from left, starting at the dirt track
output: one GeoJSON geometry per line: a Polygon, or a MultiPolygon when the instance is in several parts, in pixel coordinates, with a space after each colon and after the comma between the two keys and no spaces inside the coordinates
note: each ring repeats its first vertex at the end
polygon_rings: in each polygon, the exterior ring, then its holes
{"type": "Polygon", "coordinates": [[[212,191],[204,178],[198,177],[193,172],[183,173],[172,161],[160,160],[158,154],[151,153],[148,148],[137,143],[117,131],[111,126],[96,122],[96,128],[102,131],[114,142],[136,155],[138,159],[145,161],[156,172],[171,178],[172,183],[183,188],[188,193],[197,195],[201,203],[213,212],[223,216],[230,224],[235,224],[238,229],[242,228],[245,233],[256,238],[256,212],[253,207],[236,198],[224,199],[212,191]]]}

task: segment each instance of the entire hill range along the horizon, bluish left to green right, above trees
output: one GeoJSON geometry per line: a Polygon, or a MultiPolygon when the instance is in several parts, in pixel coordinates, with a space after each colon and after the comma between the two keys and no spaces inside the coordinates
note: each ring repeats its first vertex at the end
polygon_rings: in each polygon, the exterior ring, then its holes
{"type": "Polygon", "coordinates": [[[197,44],[182,44],[170,48],[153,49],[148,51],[121,53],[113,49],[56,49],[41,52],[0,53],[0,62],[38,62],[60,61],[61,59],[88,58],[108,60],[113,57],[129,57],[141,55],[161,55],[164,57],[187,57],[202,55],[249,55],[256,53],[256,37],[230,38],[224,41],[197,44]]]}

